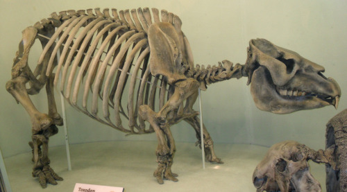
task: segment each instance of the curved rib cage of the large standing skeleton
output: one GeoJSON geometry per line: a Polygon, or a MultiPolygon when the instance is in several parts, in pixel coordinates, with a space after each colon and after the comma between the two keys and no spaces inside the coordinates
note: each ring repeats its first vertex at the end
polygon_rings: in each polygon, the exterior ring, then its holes
{"type": "Polygon", "coordinates": [[[38,66],[44,66],[46,76],[55,73],[54,85],[60,84],[66,100],[96,121],[129,134],[153,132],[137,109],[145,104],[154,110],[155,98],[162,107],[172,87],[165,77],[151,75],[146,33],[153,22],[172,24],[174,15],[162,10],[160,17],[155,8],[152,13],[153,21],[149,8],[112,9],[113,17],[108,9],[101,12],[99,8],[53,12],[49,21],[56,31],[50,37],[38,33],[49,39],[38,66]],[[49,60],[44,60],[46,54],[49,60]],[[122,125],[120,114],[129,120],[128,126],[122,125]]]}

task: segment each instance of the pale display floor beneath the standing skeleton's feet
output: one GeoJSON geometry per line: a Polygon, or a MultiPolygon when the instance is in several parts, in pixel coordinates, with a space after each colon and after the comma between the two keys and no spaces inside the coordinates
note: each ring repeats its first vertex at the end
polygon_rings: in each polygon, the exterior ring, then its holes
{"type": "MultiPolygon", "coordinates": [[[[205,163],[194,143],[176,143],[173,172],[178,182],[158,184],[153,177],[156,141],[101,141],[70,146],[72,171],[67,171],[65,146],[49,150],[51,167],[64,178],[42,189],[31,177],[31,152],[4,159],[12,191],[73,191],[76,183],[124,187],[124,191],[255,191],[252,174],[269,148],[215,143],[224,164],[205,163]]],[[[325,166],[309,162],[325,191],[325,166]]]]}

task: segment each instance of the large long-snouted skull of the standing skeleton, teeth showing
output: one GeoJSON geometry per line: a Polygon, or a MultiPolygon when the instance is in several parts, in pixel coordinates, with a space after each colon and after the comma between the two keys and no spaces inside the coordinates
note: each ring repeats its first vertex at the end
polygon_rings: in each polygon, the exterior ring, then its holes
{"type": "Polygon", "coordinates": [[[245,72],[255,105],[263,111],[287,114],[326,105],[337,107],[341,89],[325,78],[324,67],[267,40],[251,40],[245,72]]]}

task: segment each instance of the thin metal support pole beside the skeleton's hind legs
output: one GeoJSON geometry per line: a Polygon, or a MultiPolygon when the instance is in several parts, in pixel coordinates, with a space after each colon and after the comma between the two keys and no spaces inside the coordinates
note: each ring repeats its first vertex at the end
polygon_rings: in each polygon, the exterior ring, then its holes
{"type": "MultiPolygon", "coordinates": [[[[58,38],[57,41],[58,42],[58,38]]],[[[58,49],[57,52],[57,62],[59,63],[60,59],[60,49],[58,49]]],[[[62,78],[62,73],[59,73],[59,78],[61,80],[62,78]]],[[[60,81],[61,82],[61,81],[60,81]]],[[[71,159],[70,159],[70,146],[69,146],[69,137],[67,134],[67,121],[66,121],[66,112],[65,112],[65,98],[62,95],[62,92],[60,91],[60,103],[62,104],[62,121],[63,121],[63,126],[64,126],[64,133],[65,133],[65,148],[66,148],[66,157],[67,157],[67,170],[71,171],[71,159]]]]}

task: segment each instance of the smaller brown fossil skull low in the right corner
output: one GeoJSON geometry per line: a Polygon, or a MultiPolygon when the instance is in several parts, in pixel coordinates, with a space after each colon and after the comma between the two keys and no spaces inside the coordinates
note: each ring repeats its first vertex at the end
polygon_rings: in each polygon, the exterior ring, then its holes
{"type": "Polygon", "coordinates": [[[253,184],[262,191],[321,191],[321,185],[309,171],[307,161],[328,160],[318,152],[296,141],[283,141],[271,146],[253,172],[253,184]]]}

